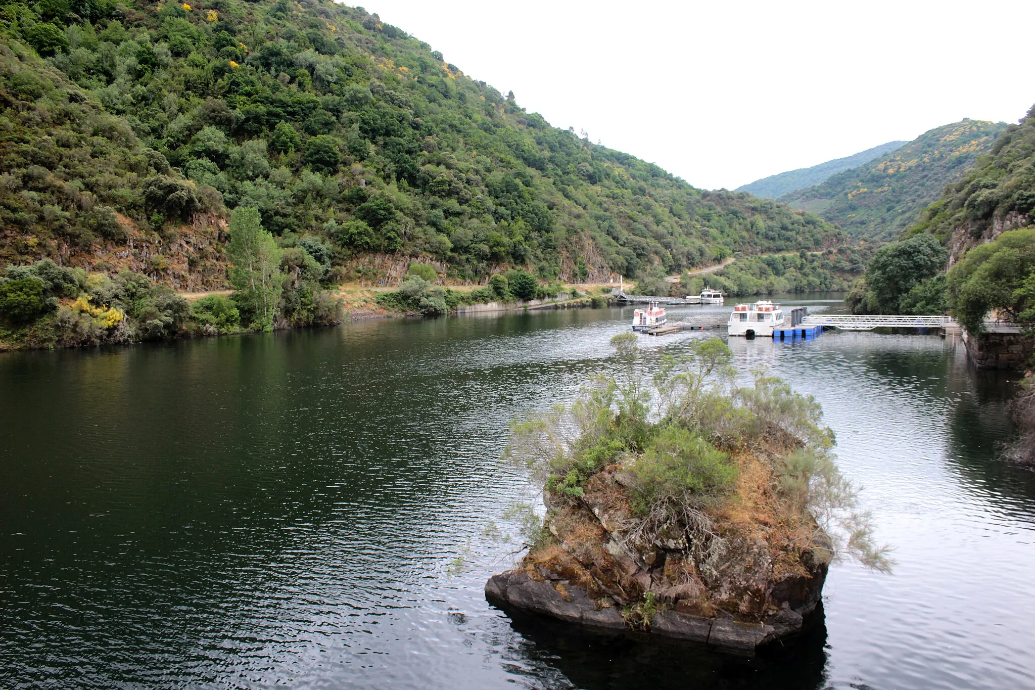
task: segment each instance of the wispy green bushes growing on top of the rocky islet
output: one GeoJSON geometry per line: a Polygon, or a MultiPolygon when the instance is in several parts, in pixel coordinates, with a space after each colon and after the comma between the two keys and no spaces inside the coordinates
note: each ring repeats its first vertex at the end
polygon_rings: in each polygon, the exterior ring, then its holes
{"type": "Polygon", "coordinates": [[[890,567],[834,463],[833,432],[822,425],[811,396],[762,370],[752,386],[737,387],[732,353],[718,338],[694,341],[683,356],[666,355],[649,380],[637,337],[623,333],[612,342],[623,381],[596,377],[571,406],[513,425],[507,454],[558,500],[579,500],[589,478],[617,463],[626,473],[622,485],[635,515],[624,528],[630,543],[678,534],[676,526],[690,533],[691,542],[704,543],[714,536],[709,515],[735,493],[737,458],[746,454],[768,466],[787,509],[819,523],[815,548],[890,567]]]}

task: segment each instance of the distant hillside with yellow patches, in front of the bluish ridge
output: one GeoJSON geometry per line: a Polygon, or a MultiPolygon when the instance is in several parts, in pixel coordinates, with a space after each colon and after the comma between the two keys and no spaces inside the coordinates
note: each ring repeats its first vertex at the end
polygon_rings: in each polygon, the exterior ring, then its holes
{"type": "Polygon", "coordinates": [[[992,150],[1005,128],[1002,122],[967,119],[937,127],[892,153],[779,201],[819,213],[854,237],[891,239],[947,183],[992,150]]]}

